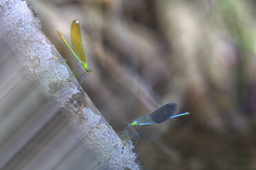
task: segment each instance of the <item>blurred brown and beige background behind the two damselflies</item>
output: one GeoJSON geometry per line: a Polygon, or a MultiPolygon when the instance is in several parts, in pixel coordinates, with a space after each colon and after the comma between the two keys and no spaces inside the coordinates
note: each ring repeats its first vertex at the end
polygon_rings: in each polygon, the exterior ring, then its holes
{"type": "Polygon", "coordinates": [[[255,1],[29,3],[66,60],[56,31],[70,42],[80,21],[92,69],[83,88],[116,132],[169,102],[191,112],[137,128],[146,169],[256,169],[255,1]]]}

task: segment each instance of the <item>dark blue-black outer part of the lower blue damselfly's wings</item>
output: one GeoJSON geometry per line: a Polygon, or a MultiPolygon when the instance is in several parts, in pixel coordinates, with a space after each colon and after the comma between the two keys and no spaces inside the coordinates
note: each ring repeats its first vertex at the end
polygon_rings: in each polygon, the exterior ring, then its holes
{"type": "Polygon", "coordinates": [[[175,103],[169,103],[161,108],[158,108],[158,110],[155,110],[150,114],[151,119],[153,119],[156,123],[163,123],[164,121],[167,121],[173,114],[175,114],[177,110],[177,104],[175,103]]]}

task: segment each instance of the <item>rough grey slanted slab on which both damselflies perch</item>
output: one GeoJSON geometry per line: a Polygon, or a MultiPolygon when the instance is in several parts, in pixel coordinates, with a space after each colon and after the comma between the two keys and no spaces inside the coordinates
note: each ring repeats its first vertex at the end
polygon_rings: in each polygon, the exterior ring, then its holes
{"type": "Polygon", "coordinates": [[[142,169],[134,146],[122,144],[45,37],[36,12],[25,1],[0,5],[0,52],[8,61],[0,75],[0,168],[142,169]]]}

